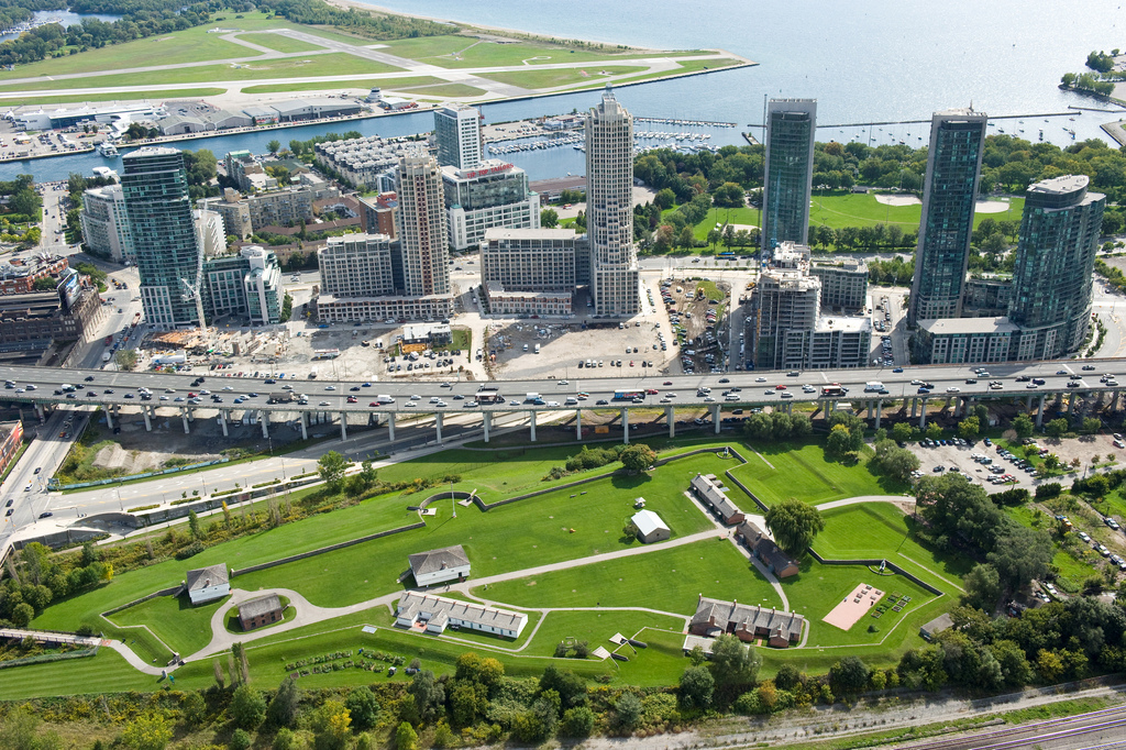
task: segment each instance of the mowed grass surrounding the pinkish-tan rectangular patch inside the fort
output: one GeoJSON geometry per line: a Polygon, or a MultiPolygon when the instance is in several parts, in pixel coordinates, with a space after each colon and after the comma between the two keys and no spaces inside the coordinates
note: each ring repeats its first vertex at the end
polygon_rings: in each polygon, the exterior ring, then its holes
{"type": "MultiPolygon", "coordinates": [[[[806,645],[810,648],[877,643],[894,632],[893,628],[897,631],[900,620],[935,598],[935,595],[903,575],[879,575],[865,565],[822,565],[806,555],[801,568],[797,575],[783,579],[781,584],[789,598],[790,609],[805,615],[810,628],[806,645]],[[909,596],[911,601],[902,611],[895,613],[888,609],[878,619],[872,617],[872,613],[876,610],[873,607],[848,631],[823,622],[824,616],[859,583],[870,584],[884,595],[895,592],[909,596]],[[879,628],[878,632],[868,631],[873,625],[879,628]]],[[[895,635],[899,642],[901,634],[895,633],[895,635]]]]}

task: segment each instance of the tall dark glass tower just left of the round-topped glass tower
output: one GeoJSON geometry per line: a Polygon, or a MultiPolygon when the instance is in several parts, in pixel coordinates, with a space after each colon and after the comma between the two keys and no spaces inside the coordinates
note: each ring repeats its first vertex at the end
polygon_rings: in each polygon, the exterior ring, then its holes
{"type": "Polygon", "coordinates": [[[908,325],[962,316],[986,120],[973,109],[948,109],[931,118],[908,325]]]}

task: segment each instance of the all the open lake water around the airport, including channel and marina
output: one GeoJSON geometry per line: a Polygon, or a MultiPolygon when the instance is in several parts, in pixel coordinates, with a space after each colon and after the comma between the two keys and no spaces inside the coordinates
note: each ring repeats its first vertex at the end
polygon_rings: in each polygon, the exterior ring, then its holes
{"type": "MultiPolygon", "coordinates": [[[[381,0],[400,12],[446,18],[484,26],[517,28],[558,38],[586,38],[654,48],[723,48],[758,65],[695,75],[673,81],[623,87],[618,99],[634,115],[734,122],[735,128],[700,130],[711,143],[742,144],[741,132],[762,119],[765,96],[817,99],[817,137],[847,141],[854,136],[874,143],[904,141],[923,145],[927,125],[894,125],[879,130],[829,128],[834,124],[929,119],[948,107],[974,108],[999,115],[1065,111],[1069,105],[1105,107],[1057,88],[1060,77],[1083,70],[1091,50],[1124,43],[1120,0],[1058,3],[1046,0],[944,0],[892,2],[855,0],[571,0],[528,3],[490,0],[381,0]],[[610,12],[607,12],[607,9],[610,12]],[[922,139],[922,140],[920,140],[922,139]]],[[[483,105],[486,122],[582,110],[600,93],[562,95],[483,105]]],[[[1069,118],[998,120],[1007,133],[1058,145],[1101,137],[1099,124],[1123,115],[1083,111],[1069,118]],[[1025,133],[1017,133],[1024,128],[1025,133]]],[[[638,125],[638,128],[642,126],[638,125]]],[[[647,127],[647,126],[646,126],[647,127]]],[[[654,126],[655,127],[655,126],[654,126]]],[[[357,130],[365,135],[403,135],[434,128],[429,114],[382,117],[356,124],[312,125],[284,131],[185,141],[186,149],[206,148],[217,155],[236,149],[266,151],[278,139],[309,139],[330,130],[357,130]]],[[[661,130],[673,130],[671,126],[661,130]]],[[[995,132],[998,128],[991,128],[995,132]]],[[[533,179],[562,177],[584,170],[583,154],[569,146],[504,157],[528,170],[533,179]]],[[[118,160],[84,154],[0,166],[0,178],[32,171],[36,179],[63,179],[71,171],[89,173],[118,160]]]]}

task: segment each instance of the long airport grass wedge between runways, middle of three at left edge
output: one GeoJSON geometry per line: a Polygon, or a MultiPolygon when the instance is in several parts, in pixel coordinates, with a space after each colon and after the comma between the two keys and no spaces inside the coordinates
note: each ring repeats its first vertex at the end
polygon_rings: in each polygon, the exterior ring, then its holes
{"type": "MultiPolygon", "coordinates": [[[[93,78],[71,78],[35,81],[3,87],[6,91],[39,91],[44,89],[87,89],[116,86],[175,86],[177,83],[207,83],[209,81],[253,81],[271,78],[310,78],[313,75],[352,75],[359,73],[391,73],[399,68],[372,62],[346,52],[314,54],[309,57],[285,57],[235,64],[199,65],[141,73],[118,73],[93,78]]],[[[118,95],[119,97],[120,95],[118,95]]]]}

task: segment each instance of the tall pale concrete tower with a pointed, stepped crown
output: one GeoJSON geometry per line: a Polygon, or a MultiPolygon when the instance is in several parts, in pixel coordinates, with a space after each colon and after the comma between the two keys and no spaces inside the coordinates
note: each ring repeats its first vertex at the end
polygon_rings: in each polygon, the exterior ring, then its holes
{"type": "Polygon", "coordinates": [[[633,241],[633,117],[607,87],[587,115],[587,233],[590,292],[599,315],[641,310],[633,241]]]}

